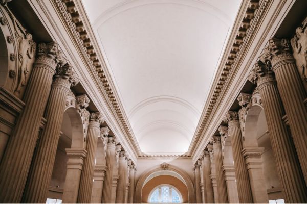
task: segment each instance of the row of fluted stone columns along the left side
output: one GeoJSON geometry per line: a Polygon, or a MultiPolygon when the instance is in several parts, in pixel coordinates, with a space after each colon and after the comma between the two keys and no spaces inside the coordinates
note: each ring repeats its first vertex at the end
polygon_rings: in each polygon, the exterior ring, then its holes
{"type": "MultiPolygon", "coordinates": [[[[37,57],[24,95],[26,106],[16,121],[0,164],[0,202],[46,202],[66,99],[70,87],[78,82],[56,42],[38,45],[37,57]],[[47,123],[38,134],[42,116],[45,116],[47,123]]],[[[86,95],[78,96],[77,110],[82,111],[89,102],[86,95]]],[[[107,142],[107,150],[106,166],[101,167],[102,174],[98,180],[102,181],[98,184],[101,196],[97,199],[104,203],[111,201],[109,198],[112,193],[115,146],[118,140],[116,137],[108,137],[108,128],[100,127],[103,122],[101,113],[90,113],[85,149],[66,149],[68,162],[63,192],[65,203],[93,201],[94,174],[100,168],[95,166],[99,137],[107,142]]],[[[128,200],[133,202],[135,165],[127,160],[126,157],[123,165],[120,162],[117,188],[119,203],[127,203],[128,200]]],[[[94,190],[97,190],[96,186],[94,190]]]]}

